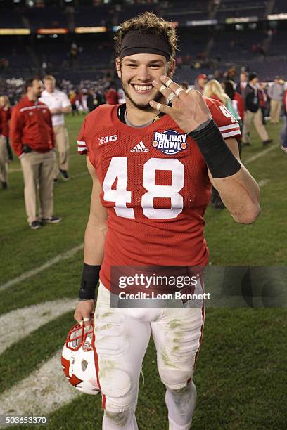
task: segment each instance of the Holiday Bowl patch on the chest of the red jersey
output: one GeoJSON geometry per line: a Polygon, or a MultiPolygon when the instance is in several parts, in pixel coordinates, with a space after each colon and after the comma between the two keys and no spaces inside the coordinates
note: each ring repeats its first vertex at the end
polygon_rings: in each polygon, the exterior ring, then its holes
{"type": "Polygon", "coordinates": [[[187,148],[187,134],[179,134],[175,130],[155,131],[153,136],[153,148],[160,150],[163,154],[174,155],[187,148]]]}

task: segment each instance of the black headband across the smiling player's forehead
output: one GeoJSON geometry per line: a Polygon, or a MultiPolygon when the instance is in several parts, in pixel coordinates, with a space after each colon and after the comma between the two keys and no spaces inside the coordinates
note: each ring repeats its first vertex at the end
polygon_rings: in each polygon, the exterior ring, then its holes
{"type": "Polygon", "coordinates": [[[160,34],[129,30],[122,40],[120,59],[136,53],[155,53],[170,60],[170,45],[160,34]]]}

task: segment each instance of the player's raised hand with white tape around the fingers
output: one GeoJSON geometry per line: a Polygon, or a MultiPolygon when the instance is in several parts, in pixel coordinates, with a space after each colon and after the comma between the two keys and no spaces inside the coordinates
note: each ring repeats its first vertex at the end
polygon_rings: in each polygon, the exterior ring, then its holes
{"type": "Polygon", "coordinates": [[[190,133],[197,129],[200,124],[212,118],[199,91],[184,91],[181,86],[167,76],[155,79],[152,84],[169,102],[172,102],[172,106],[152,100],[150,101],[151,107],[170,115],[185,133],[190,133]]]}

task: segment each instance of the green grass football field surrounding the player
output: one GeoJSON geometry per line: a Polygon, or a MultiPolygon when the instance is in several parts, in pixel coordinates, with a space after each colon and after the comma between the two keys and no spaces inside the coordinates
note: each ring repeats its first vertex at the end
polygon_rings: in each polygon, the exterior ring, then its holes
{"type": "MultiPolygon", "coordinates": [[[[72,155],[71,180],[58,181],[54,198],[55,214],[63,216],[62,223],[37,231],[27,227],[22,172],[17,159],[11,163],[9,190],[0,191],[0,285],[42,266],[83,242],[91,193],[85,157],[77,155],[76,147],[77,132],[83,119],[83,116],[67,119],[72,155]]],[[[212,266],[286,264],[287,157],[278,145],[279,127],[268,124],[267,129],[270,137],[274,138],[274,148],[262,148],[253,131],[253,145],[243,148],[242,156],[243,162],[247,162],[248,169],[261,184],[262,214],[255,224],[245,226],[236,223],[227,210],[208,208],[205,236],[212,266]],[[263,152],[261,157],[252,159],[265,150],[267,152],[263,152]]],[[[37,275],[18,280],[5,289],[0,287],[1,339],[9,337],[9,327],[13,327],[19,318],[15,315],[26,306],[60,299],[75,299],[76,304],[81,271],[82,250],[79,250],[37,275]]],[[[29,319],[33,308],[23,312],[29,319]]],[[[49,312],[43,311],[42,317],[48,318],[49,312]]],[[[101,429],[101,396],[76,397],[77,393],[74,393],[74,396],[66,398],[65,390],[60,389],[64,387],[68,391],[70,387],[61,374],[60,362],[58,367],[52,369],[55,374],[60,372],[52,387],[46,386],[42,379],[31,376],[32,372],[40,371],[44,363],[51,360],[63,346],[65,336],[74,323],[72,314],[71,309],[63,310],[29,333],[23,328],[23,336],[14,343],[12,339],[11,344],[2,351],[0,415],[7,412],[18,415],[19,411],[37,416],[49,415],[47,428],[55,430],[101,429]],[[26,379],[30,380],[30,385],[23,383],[26,379]],[[62,379],[63,387],[60,385],[62,379]],[[39,385],[41,389],[33,398],[33,387],[39,385]],[[23,396],[18,398],[19,391],[23,396]],[[7,398],[11,398],[10,409],[1,407],[1,401],[7,398]],[[37,401],[42,406],[37,406],[37,401]],[[48,413],[45,413],[47,410],[48,413]]],[[[193,429],[286,429],[286,317],[286,308],[279,307],[208,308],[203,346],[194,376],[198,402],[193,429]]],[[[21,320],[18,323],[21,332],[21,320]]],[[[144,360],[145,383],[140,386],[137,408],[141,430],[168,429],[165,390],[158,377],[155,360],[151,341],[144,360]]]]}

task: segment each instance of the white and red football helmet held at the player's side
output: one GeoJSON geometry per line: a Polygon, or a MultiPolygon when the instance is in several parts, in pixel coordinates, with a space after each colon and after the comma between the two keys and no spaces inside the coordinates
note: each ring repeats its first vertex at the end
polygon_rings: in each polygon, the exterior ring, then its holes
{"type": "Polygon", "coordinates": [[[96,374],[97,358],[94,318],[91,318],[91,327],[75,324],[68,332],[61,363],[70,384],[82,393],[98,394],[100,392],[96,374]]]}

